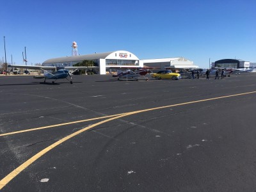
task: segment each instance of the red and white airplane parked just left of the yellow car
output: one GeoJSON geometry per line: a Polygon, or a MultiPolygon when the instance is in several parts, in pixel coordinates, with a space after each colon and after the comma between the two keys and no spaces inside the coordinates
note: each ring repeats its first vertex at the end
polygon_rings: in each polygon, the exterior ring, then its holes
{"type": "Polygon", "coordinates": [[[144,79],[147,81],[148,77],[145,77],[145,75],[148,74],[150,70],[148,68],[138,68],[134,71],[127,69],[125,71],[118,70],[116,75],[113,75],[113,77],[118,77],[118,80],[127,80],[132,79],[134,81],[138,81],[138,77],[143,76],[144,79]]]}

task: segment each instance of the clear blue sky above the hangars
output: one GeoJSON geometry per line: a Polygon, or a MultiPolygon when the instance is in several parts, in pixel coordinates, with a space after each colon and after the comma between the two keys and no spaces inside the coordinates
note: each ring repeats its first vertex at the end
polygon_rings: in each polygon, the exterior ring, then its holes
{"type": "Polygon", "coordinates": [[[138,58],[182,56],[205,68],[236,58],[256,62],[256,0],[1,1],[0,56],[28,65],[125,50],[138,58]]]}

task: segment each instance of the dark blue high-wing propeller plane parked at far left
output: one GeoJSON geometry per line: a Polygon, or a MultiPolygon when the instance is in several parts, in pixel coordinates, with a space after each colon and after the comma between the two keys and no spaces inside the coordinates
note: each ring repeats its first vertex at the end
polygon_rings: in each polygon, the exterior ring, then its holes
{"type": "Polygon", "coordinates": [[[8,65],[8,67],[43,70],[45,72],[44,76],[33,76],[33,78],[44,79],[44,83],[46,79],[53,79],[52,84],[54,84],[57,79],[67,79],[69,83],[72,84],[73,81],[70,75],[74,73],[76,70],[87,69],[87,68],[97,68],[97,67],[51,67],[51,66],[32,66],[32,65],[8,65]],[[49,72],[47,70],[51,70],[53,72],[49,72]],[[68,70],[74,70],[74,71],[70,73],[68,70]],[[68,76],[70,77],[70,79],[67,78],[68,76]]]}

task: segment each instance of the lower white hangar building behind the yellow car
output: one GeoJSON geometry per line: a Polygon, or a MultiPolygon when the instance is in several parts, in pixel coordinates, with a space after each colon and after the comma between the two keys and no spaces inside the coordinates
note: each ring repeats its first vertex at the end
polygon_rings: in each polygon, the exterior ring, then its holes
{"type": "Polygon", "coordinates": [[[173,69],[173,68],[199,68],[194,65],[193,61],[186,58],[163,58],[153,60],[140,60],[140,63],[147,65],[147,67],[158,68],[159,70],[173,69]]]}

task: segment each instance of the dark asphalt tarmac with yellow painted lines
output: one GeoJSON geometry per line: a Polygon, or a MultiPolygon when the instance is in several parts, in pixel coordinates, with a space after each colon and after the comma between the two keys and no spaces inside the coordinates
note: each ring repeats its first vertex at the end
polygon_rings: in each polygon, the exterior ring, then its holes
{"type": "Polygon", "coordinates": [[[255,191],[256,73],[0,77],[0,191],[255,191]]]}

